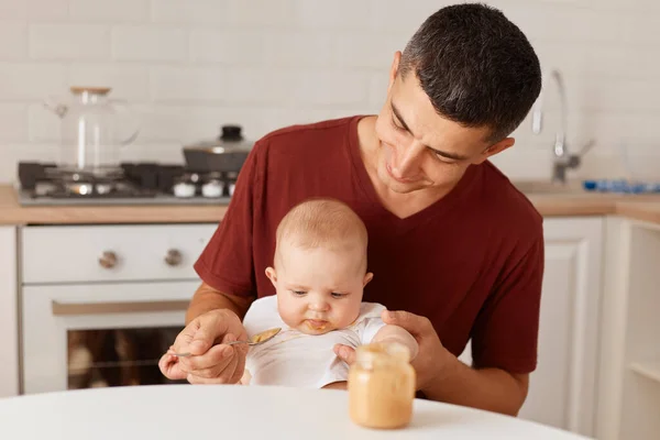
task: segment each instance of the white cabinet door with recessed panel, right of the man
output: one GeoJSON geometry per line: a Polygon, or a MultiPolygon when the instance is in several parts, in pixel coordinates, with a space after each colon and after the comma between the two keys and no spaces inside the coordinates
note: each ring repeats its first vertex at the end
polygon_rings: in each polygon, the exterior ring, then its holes
{"type": "MultiPolygon", "coordinates": [[[[602,277],[602,217],[543,221],[546,267],[538,366],[519,417],[593,435],[602,277]]],[[[470,349],[460,356],[470,363],[470,349]]]]}

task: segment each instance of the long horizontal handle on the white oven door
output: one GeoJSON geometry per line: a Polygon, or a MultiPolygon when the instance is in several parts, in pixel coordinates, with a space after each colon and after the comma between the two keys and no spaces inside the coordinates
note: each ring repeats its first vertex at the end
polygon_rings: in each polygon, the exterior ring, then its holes
{"type": "Polygon", "coordinates": [[[183,299],[163,301],[125,301],[125,302],[58,302],[53,301],[54,316],[82,316],[108,314],[144,314],[164,311],[185,311],[190,301],[183,299]]]}

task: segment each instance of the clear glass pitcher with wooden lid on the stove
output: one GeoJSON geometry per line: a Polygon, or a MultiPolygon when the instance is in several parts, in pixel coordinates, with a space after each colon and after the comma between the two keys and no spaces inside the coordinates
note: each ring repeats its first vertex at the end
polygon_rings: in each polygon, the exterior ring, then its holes
{"type": "Polygon", "coordinates": [[[138,138],[139,124],[123,100],[110,99],[110,88],[72,87],[72,96],[44,106],[62,120],[58,167],[95,176],[120,169],[120,153],[138,138]]]}

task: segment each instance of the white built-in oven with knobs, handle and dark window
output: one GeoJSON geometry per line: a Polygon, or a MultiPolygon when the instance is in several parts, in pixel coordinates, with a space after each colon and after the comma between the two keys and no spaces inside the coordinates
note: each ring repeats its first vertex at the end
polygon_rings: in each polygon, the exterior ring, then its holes
{"type": "Polygon", "coordinates": [[[24,394],[174,383],[161,355],[199,285],[216,224],[21,229],[24,394]]]}

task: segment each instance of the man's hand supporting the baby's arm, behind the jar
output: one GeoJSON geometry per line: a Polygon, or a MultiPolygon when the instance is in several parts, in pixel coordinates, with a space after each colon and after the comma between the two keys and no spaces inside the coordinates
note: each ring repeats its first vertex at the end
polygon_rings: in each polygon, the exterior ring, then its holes
{"type": "MultiPolygon", "coordinates": [[[[389,310],[383,310],[382,318],[387,324],[404,328],[417,340],[419,351],[413,360],[413,366],[417,373],[417,389],[424,391],[442,372],[442,365],[451,354],[442,346],[428,318],[407,311],[389,310]]],[[[355,361],[355,351],[348,345],[337,344],[334,353],[349,365],[355,361]]]]}

